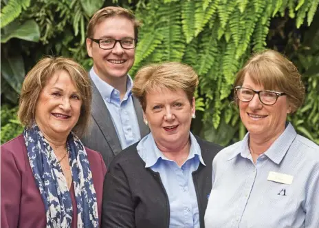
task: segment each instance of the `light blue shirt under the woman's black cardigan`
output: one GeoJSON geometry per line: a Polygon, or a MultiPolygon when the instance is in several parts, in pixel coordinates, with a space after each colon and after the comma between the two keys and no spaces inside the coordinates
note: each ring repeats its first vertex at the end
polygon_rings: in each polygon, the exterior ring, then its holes
{"type": "Polygon", "coordinates": [[[137,152],[145,167],[151,167],[161,176],[170,203],[170,228],[199,228],[199,210],[192,172],[203,162],[201,147],[190,133],[190,153],[181,167],[162,154],[157,148],[152,133],[137,145],[137,152]]]}

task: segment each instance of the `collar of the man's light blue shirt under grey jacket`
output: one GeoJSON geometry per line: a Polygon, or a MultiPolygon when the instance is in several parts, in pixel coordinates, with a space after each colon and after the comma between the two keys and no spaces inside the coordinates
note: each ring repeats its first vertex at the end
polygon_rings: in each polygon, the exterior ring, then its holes
{"type": "MultiPolygon", "coordinates": [[[[109,83],[106,83],[105,81],[100,79],[100,77],[98,76],[98,74],[96,74],[93,68],[91,68],[89,74],[104,100],[106,99],[107,101],[111,101],[111,99],[113,99],[115,96],[120,96],[120,92],[116,90],[113,86],[109,85],[109,83]]],[[[126,94],[123,100],[129,98],[129,96],[131,96],[132,94],[133,80],[131,76],[129,76],[129,74],[127,74],[127,79],[128,80],[126,80],[126,94]]]]}

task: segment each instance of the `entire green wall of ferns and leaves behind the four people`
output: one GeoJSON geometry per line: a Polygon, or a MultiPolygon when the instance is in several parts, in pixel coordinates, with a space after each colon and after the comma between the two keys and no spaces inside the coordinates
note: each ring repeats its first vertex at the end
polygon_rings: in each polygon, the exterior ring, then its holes
{"type": "MultiPolygon", "coordinates": [[[[300,134],[319,144],[318,4],[319,0],[2,0],[1,107],[17,104],[25,72],[45,54],[72,56],[90,68],[87,22],[99,8],[118,5],[131,8],[143,23],[131,75],[142,65],[161,61],[187,63],[199,74],[193,132],[221,145],[244,136],[245,127],[232,104],[234,75],[252,52],[268,46],[286,54],[303,73],[305,105],[289,120],[300,134]]],[[[12,124],[1,118],[1,133],[12,124]]],[[[12,137],[14,130],[13,125],[12,137]]]]}

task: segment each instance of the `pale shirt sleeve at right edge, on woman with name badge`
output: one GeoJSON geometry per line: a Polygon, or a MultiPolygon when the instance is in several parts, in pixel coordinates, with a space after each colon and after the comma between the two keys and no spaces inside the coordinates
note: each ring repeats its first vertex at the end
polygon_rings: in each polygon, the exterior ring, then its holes
{"type": "Polygon", "coordinates": [[[312,169],[307,187],[305,203],[305,227],[318,227],[319,225],[319,163],[312,169]]]}

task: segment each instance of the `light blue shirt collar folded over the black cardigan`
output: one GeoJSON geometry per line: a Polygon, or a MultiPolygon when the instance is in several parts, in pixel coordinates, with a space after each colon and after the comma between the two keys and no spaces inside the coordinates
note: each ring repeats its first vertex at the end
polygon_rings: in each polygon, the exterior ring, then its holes
{"type": "MultiPolygon", "coordinates": [[[[169,160],[157,148],[152,133],[142,138],[140,143],[137,144],[136,149],[142,160],[144,160],[146,168],[152,167],[158,160],[169,160]]],[[[200,163],[206,166],[201,156],[201,147],[197,143],[195,136],[190,132],[190,153],[187,160],[195,158],[195,156],[199,158],[200,163]]]]}

